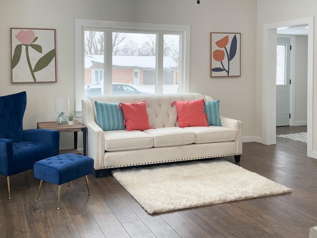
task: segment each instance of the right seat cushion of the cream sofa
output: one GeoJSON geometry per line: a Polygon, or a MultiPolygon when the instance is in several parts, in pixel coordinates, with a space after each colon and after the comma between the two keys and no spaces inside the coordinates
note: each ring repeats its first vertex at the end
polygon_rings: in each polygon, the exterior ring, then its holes
{"type": "Polygon", "coordinates": [[[232,141],[237,139],[237,131],[224,126],[189,126],[184,129],[196,134],[196,144],[232,141]]]}

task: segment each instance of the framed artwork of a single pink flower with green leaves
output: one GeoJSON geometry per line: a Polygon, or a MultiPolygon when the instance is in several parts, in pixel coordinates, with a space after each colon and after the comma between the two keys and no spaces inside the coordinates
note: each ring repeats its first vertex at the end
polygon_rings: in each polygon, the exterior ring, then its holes
{"type": "Polygon", "coordinates": [[[10,30],[11,83],[56,82],[55,29],[10,30]]]}

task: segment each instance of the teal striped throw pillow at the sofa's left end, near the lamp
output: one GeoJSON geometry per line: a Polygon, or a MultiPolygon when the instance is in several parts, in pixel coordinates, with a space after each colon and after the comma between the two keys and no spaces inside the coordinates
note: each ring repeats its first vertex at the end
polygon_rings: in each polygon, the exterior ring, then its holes
{"type": "Polygon", "coordinates": [[[103,130],[124,130],[123,112],[118,103],[100,103],[95,101],[97,123],[103,130]]]}

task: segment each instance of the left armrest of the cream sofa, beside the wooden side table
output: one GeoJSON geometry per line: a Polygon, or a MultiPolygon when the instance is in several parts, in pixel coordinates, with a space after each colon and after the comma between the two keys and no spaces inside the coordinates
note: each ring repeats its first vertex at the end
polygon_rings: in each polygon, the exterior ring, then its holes
{"type": "Polygon", "coordinates": [[[83,124],[87,127],[87,156],[94,159],[95,170],[104,169],[105,132],[96,123],[90,99],[82,100],[83,124]]]}

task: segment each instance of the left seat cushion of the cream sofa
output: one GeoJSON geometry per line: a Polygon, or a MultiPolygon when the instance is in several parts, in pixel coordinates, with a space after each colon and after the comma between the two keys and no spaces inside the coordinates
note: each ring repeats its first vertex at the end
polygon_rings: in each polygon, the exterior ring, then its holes
{"type": "Polygon", "coordinates": [[[138,150],[153,147],[153,137],[140,130],[105,131],[105,150],[138,150]]]}

